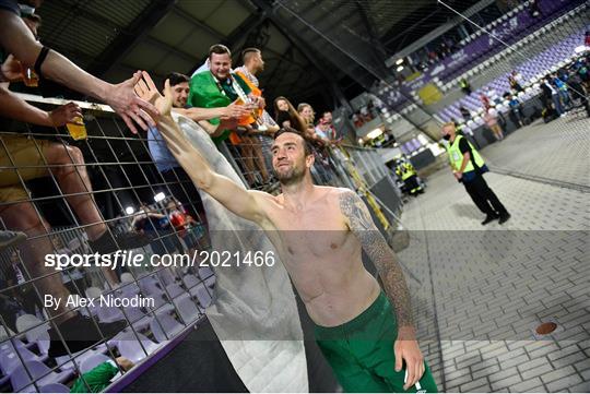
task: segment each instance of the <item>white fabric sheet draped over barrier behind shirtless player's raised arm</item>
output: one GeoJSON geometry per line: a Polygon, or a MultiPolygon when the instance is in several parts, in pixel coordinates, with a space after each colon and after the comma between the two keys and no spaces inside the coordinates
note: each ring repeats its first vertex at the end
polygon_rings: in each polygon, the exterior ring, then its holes
{"type": "MultiPolygon", "coordinates": [[[[176,116],[187,139],[211,168],[243,186],[232,165],[192,120],[176,116]]],[[[260,227],[200,192],[217,251],[272,251],[272,267],[213,267],[214,303],[206,309],[232,365],[250,392],[308,392],[307,361],[288,275],[260,227]],[[261,341],[256,341],[260,338],[261,341]]]]}

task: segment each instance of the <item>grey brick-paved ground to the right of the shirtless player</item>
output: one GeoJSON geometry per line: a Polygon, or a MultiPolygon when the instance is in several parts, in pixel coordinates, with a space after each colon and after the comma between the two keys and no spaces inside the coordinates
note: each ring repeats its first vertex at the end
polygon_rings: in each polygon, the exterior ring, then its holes
{"type": "Polygon", "coordinates": [[[481,226],[451,174],[404,206],[399,253],[440,390],[590,391],[590,120],[534,123],[482,151],[512,218],[481,226]],[[499,174],[502,170],[503,174],[499,174]],[[519,176],[507,176],[516,170],[519,176]],[[557,323],[550,336],[535,335],[557,323]]]}

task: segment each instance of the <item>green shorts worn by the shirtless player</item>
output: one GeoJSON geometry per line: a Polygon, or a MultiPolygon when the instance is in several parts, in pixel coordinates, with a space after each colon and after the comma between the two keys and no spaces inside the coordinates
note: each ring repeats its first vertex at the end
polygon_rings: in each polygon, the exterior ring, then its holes
{"type": "Polygon", "coordinates": [[[396,372],[393,343],[398,324],[384,291],[352,321],[335,327],[316,325],[316,341],[346,393],[436,393],[428,366],[420,382],[403,390],[405,368],[396,372]]]}

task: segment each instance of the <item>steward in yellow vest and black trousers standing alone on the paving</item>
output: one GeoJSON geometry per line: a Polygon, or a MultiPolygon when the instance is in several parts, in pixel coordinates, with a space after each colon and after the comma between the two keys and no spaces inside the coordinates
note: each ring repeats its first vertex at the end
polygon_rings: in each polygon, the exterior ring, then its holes
{"type": "Polygon", "coordinates": [[[499,224],[507,222],[510,214],[483,178],[489,169],[480,153],[465,136],[457,134],[452,122],[442,127],[442,138],[449,142],[446,148],[455,178],[463,183],[475,205],[486,215],[482,225],[496,219],[499,224]]]}

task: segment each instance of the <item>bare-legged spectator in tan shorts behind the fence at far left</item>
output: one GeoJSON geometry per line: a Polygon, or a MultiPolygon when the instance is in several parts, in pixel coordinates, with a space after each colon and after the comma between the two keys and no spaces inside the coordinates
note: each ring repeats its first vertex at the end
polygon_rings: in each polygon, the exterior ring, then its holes
{"type": "MultiPolygon", "coordinates": [[[[0,114],[40,126],[62,127],[68,122],[74,122],[74,119],[81,116],[80,108],[73,103],[46,112],[26,104],[2,87],[0,87],[0,103],[2,103],[0,114]]],[[[0,207],[0,217],[8,228],[23,230],[33,238],[23,244],[21,251],[32,277],[43,277],[35,283],[39,292],[62,299],[69,295],[59,275],[50,275],[55,271],[44,264],[45,255],[54,251],[46,236],[50,226],[43,217],[39,217],[36,208],[28,201],[28,193],[21,183],[21,179],[32,180],[52,175],[60,190],[68,194],[66,201],[78,215],[80,223],[85,226],[90,246],[94,252],[110,253],[118,249],[133,249],[145,244],[144,237],[131,234],[113,234],[107,228],[94,203],[84,157],[78,147],[47,140],[12,135],[0,136],[0,140],[2,142],[0,166],[14,166],[19,171],[17,174],[16,171],[4,174],[0,178],[0,202],[14,202],[0,207]],[[38,165],[38,167],[26,167],[32,165],[38,165]],[[45,165],[50,167],[46,168],[45,165]]],[[[103,272],[111,285],[118,282],[114,272],[108,267],[104,267],[103,272]]],[[[49,314],[56,317],[55,323],[60,327],[71,351],[82,350],[101,339],[94,323],[68,311],[64,302],[61,302],[57,310],[50,310],[49,314]],[[70,341],[75,338],[80,332],[88,333],[84,341],[70,341]]],[[[125,323],[99,323],[98,326],[102,333],[108,337],[119,332],[125,323]]],[[[57,331],[51,329],[49,334],[51,338],[49,354],[51,356],[64,355],[67,351],[57,331]]]]}

